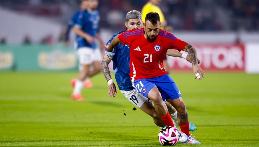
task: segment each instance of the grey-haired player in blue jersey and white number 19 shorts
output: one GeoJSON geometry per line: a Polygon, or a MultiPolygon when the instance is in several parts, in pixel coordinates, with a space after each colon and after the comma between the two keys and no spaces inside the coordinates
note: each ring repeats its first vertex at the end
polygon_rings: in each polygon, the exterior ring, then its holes
{"type": "MultiPolygon", "coordinates": [[[[142,16],[140,12],[138,11],[130,11],[126,15],[126,22],[125,26],[127,27],[126,30],[120,31],[119,33],[113,35],[111,40],[107,42],[107,45],[111,43],[113,38],[123,33],[127,30],[131,29],[138,29],[143,27],[142,22],[142,16]]],[[[191,62],[190,57],[186,54],[182,54],[175,50],[168,50],[167,55],[170,56],[176,56],[176,57],[183,57],[186,58],[189,62],[191,62]]],[[[113,69],[115,73],[115,79],[117,82],[117,85],[119,89],[121,90],[121,93],[129,99],[134,105],[136,105],[140,110],[144,111],[146,114],[150,115],[155,124],[159,127],[164,127],[165,124],[159,117],[159,115],[156,113],[153,103],[151,101],[148,101],[146,97],[141,95],[136,91],[136,89],[132,86],[132,82],[129,78],[129,46],[123,44],[119,44],[116,48],[114,48],[113,52],[105,52],[103,60],[102,60],[102,71],[104,73],[104,76],[108,82],[108,93],[110,97],[115,97],[115,92],[117,92],[116,86],[111,78],[110,71],[108,68],[108,64],[113,60],[113,69]]],[[[199,61],[200,62],[200,61],[199,61]]],[[[167,105],[167,108],[170,112],[170,115],[176,125],[178,125],[177,117],[176,117],[176,110],[170,103],[165,102],[167,105]]],[[[190,123],[190,131],[194,131],[195,126],[190,123]]]]}

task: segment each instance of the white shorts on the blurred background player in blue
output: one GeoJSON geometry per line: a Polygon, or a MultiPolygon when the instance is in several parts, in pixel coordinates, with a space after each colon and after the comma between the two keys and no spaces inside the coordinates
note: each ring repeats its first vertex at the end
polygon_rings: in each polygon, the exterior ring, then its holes
{"type": "Polygon", "coordinates": [[[90,65],[94,61],[102,61],[100,49],[81,47],[77,49],[77,56],[81,65],[90,65]]]}

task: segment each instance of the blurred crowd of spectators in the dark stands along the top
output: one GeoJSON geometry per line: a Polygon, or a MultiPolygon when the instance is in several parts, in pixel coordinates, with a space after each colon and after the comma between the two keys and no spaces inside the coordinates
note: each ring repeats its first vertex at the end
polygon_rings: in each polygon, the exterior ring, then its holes
{"type": "MultiPolygon", "coordinates": [[[[124,29],[124,16],[141,11],[149,0],[99,0],[100,28],[124,29]]],[[[160,1],[167,25],[176,31],[259,31],[259,0],[152,0],[160,1]]],[[[0,6],[19,13],[67,23],[79,0],[0,0],[0,6]]],[[[144,17],[144,16],[143,16],[144,17]]]]}

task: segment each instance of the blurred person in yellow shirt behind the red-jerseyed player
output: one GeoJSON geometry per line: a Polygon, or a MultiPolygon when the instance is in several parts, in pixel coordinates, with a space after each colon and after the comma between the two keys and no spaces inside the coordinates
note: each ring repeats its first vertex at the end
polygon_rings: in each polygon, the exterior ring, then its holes
{"type": "MultiPolygon", "coordinates": [[[[149,12],[157,12],[160,16],[160,21],[161,21],[161,29],[167,32],[171,32],[173,30],[172,26],[167,26],[167,21],[165,20],[165,16],[162,12],[162,10],[159,8],[161,0],[149,0],[142,8],[141,14],[143,17],[143,21],[145,22],[146,14],[149,12]]],[[[167,63],[167,59],[165,56],[164,59],[164,68],[169,73],[170,71],[170,66],[167,63]]]]}

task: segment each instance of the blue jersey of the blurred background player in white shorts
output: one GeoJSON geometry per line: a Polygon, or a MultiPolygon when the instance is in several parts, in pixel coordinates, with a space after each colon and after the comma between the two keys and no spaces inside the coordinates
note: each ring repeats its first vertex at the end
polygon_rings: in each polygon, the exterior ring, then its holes
{"type": "MultiPolygon", "coordinates": [[[[99,12],[96,10],[94,12],[88,12],[87,10],[81,11],[79,17],[77,18],[77,24],[75,27],[82,29],[85,33],[95,37],[95,34],[98,33],[98,25],[100,21],[99,12]]],[[[80,47],[90,47],[96,49],[96,44],[88,43],[85,38],[77,36],[77,48],[80,47]]]]}

